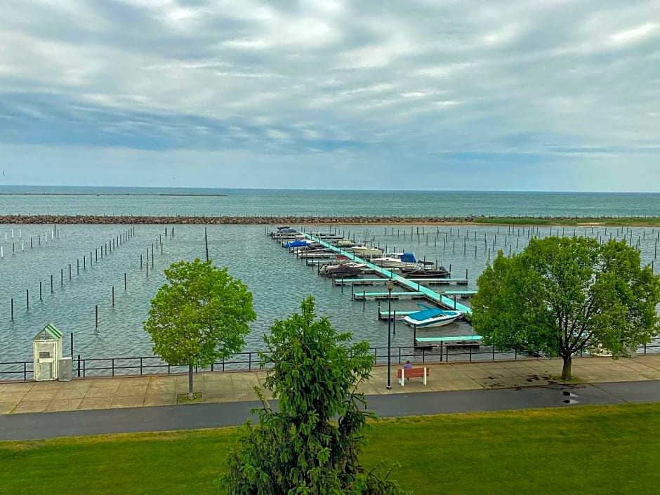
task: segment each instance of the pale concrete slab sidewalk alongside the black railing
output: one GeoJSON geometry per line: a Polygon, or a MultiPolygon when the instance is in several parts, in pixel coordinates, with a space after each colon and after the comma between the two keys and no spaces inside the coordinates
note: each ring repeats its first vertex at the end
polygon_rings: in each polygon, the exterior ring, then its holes
{"type": "MultiPolygon", "coordinates": [[[[385,388],[387,367],[378,366],[362,391],[367,395],[387,395],[542,386],[557,381],[562,362],[526,359],[429,364],[427,385],[413,378],[404,387],[397,383],[399,367],[392,366],[392,390],[385,388]]],[[[206,403],[256,400],[253,388],[261,387],[265,375],[266,371],[199,373],[194,376],[194,390],[202,392],[202,402],[206,403]]],[[[660,355],[617,361],[609,357],[576,358],[573,375],[586,383],[660,380],[660,355]]],[[[172,405],[176,404],[177,394],[187,392],[187,386],[187,375],[0,383],[0,414],[172,405]]]]}

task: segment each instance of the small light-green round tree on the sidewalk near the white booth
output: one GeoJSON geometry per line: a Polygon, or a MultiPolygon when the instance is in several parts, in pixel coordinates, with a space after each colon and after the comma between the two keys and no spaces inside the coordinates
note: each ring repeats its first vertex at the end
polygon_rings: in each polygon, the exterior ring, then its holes
{"type": "Polygon", "coordinates": [[[143,322],[154,353],[172,365],[188,365],[188,397],[192,399],[192,371],[239,352],[256,319],[252,293],[240,280],[205,263],[173,263],[165,270],[167,283],[151,300],[143,322]]]}

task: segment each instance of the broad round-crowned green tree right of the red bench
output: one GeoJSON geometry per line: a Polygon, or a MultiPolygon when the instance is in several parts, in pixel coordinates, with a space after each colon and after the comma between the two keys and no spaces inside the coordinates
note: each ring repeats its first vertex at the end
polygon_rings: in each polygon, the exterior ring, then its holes
{"type": "Polygon", "coordinates": [[[658,334],[660,277],[625,241],[531,239],[511,258],[500,251],[477,286],[475,330],[500,347],[561,357],[565,380],[576,352],[601,347],[616,356],[658,334]]]}

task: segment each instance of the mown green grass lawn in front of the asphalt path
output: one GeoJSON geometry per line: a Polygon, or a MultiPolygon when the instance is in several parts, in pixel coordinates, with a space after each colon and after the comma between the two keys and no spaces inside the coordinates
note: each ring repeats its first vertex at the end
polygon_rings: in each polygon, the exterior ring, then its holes
{"type": "MultiPolygon", "coordinates": [[[[0,418],[1,421],[1,418],[0,418]]],[[[0,493],[213,494],[235,428],[0,442],[0,493]]],[[[660,493],[660,404],[379,421],[365,466],[425,494],[660,493]]]]}

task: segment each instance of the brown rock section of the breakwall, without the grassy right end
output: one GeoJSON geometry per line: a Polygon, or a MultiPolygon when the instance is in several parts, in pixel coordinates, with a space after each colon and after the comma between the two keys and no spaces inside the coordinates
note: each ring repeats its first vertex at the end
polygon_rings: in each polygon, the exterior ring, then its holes
{"type": "Polygon", "coordinates": [[[475,217],[399,216],[94,216],[94,215],[2,215],[0,224],[167,224],[167,225],[285,225],[285,224],[422,224],[472,223],[475,217]]]}

